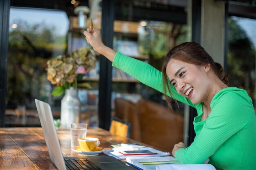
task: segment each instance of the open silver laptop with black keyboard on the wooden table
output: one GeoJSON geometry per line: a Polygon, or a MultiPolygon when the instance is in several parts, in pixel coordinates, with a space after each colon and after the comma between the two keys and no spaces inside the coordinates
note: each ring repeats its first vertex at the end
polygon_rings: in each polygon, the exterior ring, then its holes
{"type": "Polygon", "coordinates": [[[134,170],[111,156],[63,157],[51,107],[38,99],[35,101],[50,159],[58,170],[90,170],[90,168],[93,170],[134,170]]]}

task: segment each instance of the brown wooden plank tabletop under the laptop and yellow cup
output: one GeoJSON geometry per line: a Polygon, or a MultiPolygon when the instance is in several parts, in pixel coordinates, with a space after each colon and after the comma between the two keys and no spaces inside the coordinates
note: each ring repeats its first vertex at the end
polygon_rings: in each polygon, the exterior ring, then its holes
{"type": "MultiPolygon", "coordinates": [[[[69,148],[70,130],[57,132],[64,157],[79,156],[69,148]]],[[[99,138],[103,148],[121,143],[145,145],[101,128],[88,128],[87,137],[99,138]]],[[[0,170],[57,170],[49,158],[42,128],[0,128],[0,170]]]]}

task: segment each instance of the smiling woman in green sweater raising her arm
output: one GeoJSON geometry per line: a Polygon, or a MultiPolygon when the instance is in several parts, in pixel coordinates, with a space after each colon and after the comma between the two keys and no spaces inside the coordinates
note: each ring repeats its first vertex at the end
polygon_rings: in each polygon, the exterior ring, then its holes
{"type": "Polygon", "coordinates": [[[187,42],[173,47],[160,72],[105,46],[99,30],[95,29],[91,35],[88,29],[84,35],[95,51],[113,62],[112,66],[196,108],[195,140],[187,148],[180,142],[172,151],[180,163],[203,163],[209,158],[209,163],[222,170],[256,169],[256,117],[252,99],[246,91],[228,87],[221,65],[214,63],[202,46],[187,42]]]}

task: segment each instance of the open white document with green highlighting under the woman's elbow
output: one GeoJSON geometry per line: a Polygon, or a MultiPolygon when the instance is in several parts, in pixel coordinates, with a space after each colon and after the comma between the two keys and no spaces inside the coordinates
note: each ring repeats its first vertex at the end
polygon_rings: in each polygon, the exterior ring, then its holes
{"type": "Polygon", "coordinates": [[[126,163],[140,170],[216,170],[211,164],[180,164],[171,156],[127,157],[126,163]]]}

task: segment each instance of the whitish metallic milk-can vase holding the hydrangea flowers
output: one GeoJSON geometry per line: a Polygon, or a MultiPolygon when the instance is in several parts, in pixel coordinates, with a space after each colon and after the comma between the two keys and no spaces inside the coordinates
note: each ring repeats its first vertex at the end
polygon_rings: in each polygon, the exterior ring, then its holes
{"type": "Polygon", "coordinates": [[[71,129],[72,123],[80,122],[80,100],[77,89],[73,87],[65,90],[61,100],[61,129],[71,129]]]}

